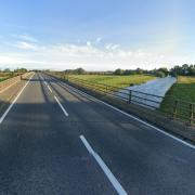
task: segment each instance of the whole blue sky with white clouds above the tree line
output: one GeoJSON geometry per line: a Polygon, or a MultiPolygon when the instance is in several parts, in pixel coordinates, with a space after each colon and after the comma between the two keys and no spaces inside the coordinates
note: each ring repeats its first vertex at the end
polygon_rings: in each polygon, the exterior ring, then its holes
{"type": "Polygon", "coordinates": [[[194,0],[0,1],[0,68],[195,64],[194,0]]]}

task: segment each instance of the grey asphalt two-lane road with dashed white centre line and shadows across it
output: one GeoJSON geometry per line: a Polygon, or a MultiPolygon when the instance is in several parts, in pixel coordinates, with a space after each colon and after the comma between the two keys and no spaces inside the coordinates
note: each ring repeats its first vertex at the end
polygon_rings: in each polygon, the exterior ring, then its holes
{"type": "Polygon", "coordinates": [[[35,74],[0,123],[1,194],[192,195],[195,148],[35,74]]]}

